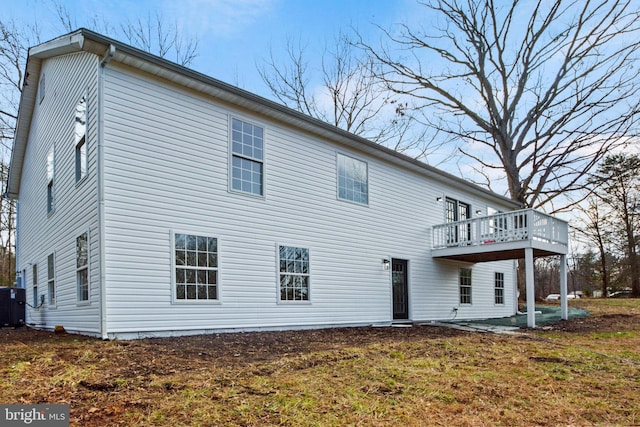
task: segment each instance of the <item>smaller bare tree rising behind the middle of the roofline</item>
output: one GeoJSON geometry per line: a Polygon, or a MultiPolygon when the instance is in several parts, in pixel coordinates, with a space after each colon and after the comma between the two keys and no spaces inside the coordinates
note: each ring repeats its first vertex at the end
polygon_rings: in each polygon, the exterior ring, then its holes
{"type": "Polygon", "coordinates": [[[286,51],[285,64],[271,54],[258,69],[282,104],[415,158],[440,145],[406,100],[385,89],[373,73],[372,58],[355,49],[346,35],[325,50],[318,70],[310,69],[307,58],[312,55],[301,43],[290,39],[286,51]]]}

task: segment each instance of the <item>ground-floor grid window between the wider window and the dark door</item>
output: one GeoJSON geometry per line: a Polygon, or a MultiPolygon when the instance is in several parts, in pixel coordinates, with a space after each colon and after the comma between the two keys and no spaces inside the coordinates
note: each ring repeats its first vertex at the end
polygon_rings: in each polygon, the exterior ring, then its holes
{"type": "Polygon", "coordinates": [[[280,301],[309,301],[309,249],[279,246],[280,301]]]}

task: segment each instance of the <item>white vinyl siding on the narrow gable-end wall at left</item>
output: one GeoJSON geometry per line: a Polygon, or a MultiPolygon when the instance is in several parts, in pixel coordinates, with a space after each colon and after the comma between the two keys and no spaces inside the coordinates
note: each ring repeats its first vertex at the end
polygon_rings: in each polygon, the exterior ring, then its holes
{"type": "Polygon", "coordinates": [[[98,230],[97,152],[97,72],[98,57],[69,54],[43,60],[47,96],[36,103],[20,183],[17,259],[20,269],[39,267],[38,287],[27,290],[28,322],[45,329],[64,325],[69,332],[98,335],[100,332],[100,233],[98,230]],[[54,95],[54,96],[52,96],[54,95]],[[86,96],[87,176],[76,184],[75,117],[80,99],[86,96]],[[53,211],[47,212],[47,157],[54,152],[53,211]],[[89,232],[89,301],[78,304],[76,238],[89,232]],[[47,260],[55,249],[55,309],[48,304],[47,260]]]}

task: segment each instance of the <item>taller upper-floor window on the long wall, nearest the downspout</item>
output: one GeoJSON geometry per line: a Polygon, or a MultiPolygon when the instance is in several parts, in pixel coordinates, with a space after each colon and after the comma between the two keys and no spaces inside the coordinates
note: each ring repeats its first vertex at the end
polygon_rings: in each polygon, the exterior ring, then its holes
{"type": "Polygon", "coordinates": [[[264,194],[264,132],[260,126],[231,119],[231,188],[264,194]]]}

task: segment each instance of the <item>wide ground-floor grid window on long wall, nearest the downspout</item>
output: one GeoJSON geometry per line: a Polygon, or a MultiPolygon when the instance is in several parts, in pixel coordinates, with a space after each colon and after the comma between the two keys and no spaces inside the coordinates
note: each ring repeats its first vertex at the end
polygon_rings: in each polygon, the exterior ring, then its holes
{"type": "Polygon", "coordinates": [[[218,299],[218,239],[193,234],[174,235],[175,299],[218,299]]]}

